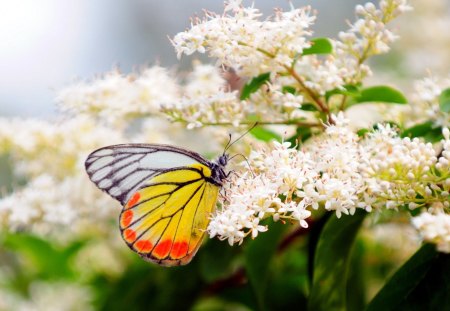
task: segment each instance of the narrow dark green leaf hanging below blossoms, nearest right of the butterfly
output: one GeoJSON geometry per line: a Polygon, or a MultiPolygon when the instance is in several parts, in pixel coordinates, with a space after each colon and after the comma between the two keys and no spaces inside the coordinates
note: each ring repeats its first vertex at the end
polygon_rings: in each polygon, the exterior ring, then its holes
{"type": "Polygon", "coordinates": [[[270,222],[269,230],[247,243],[244,250],[245,269],[261,310],[265,309],[265,292],[269,281],[270,264],[286,226],[270,222]]]}

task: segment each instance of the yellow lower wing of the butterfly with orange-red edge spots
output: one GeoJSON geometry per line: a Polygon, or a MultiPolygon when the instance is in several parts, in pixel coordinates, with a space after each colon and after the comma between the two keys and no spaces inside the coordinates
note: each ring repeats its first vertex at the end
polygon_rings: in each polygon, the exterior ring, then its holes
{"type": "Polygon", "coordinates": [[[162,172],[146,181],[124,204],[122,237],[146,260],[187,264],[201,245],[219,187],[211,170],[193,164],[162,172]]]}

